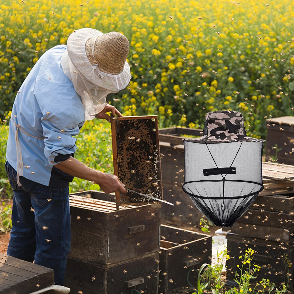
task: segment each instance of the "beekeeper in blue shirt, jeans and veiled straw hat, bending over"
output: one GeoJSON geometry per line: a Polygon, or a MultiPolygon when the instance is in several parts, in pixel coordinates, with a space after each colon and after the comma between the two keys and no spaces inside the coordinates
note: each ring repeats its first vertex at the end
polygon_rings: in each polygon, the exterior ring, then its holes
{"type": "Polygon", "coordinates": [[[21,85],[12,108],[5,163],[14,192],[7,254],[54,269],[64,284],[71,246],[69,182],[99,184],[105,193],[124,184],[74,158],[76,138],[86,120],[121,113],[106,102],[130,82],[128,39],[83,28],[67,45],[46,51],[21,85]]]}

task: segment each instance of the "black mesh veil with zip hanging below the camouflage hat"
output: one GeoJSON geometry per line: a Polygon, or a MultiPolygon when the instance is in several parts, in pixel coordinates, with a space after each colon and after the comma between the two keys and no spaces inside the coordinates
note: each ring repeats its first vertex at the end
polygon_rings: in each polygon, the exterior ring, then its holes
{"type": "Polygon", "coordinates": [[[219,227],[232,227],[263,190],[263,141],[183,140],[182,189],[219,227]]]}

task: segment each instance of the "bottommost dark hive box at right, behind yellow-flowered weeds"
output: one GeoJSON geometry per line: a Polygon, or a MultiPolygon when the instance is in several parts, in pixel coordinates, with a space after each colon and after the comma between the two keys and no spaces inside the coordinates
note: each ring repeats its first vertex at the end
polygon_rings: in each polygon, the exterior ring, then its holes
{"type": "Polygon", "coordinates": [[[228,255],[230,255],[230,259],[226,260],[227,280],[233,281],[235,279],[235,272],[240,273],[240,270],[237,268],[238,264],[241,268],[239,256],[244,255],[245,250],[248,248],[252,248],[254,250],[253,263],[259,265],[261,268],[260,271],[256,271],[255,273],[257,279],[251,280],[251,282],[259,282],[265,278],[275,283],[276,286],[281,286],[281,283],[286,283],[287,285],[287,273],[289,271],[289,279],[291,279],[289,280],[289,290],[293,290],[293,243],[265,241],[263,239],[243,237],[235,234],[227,234],[226,239],[228,255]],[[287,260],[289,263],[287,263],[287,260]]]}

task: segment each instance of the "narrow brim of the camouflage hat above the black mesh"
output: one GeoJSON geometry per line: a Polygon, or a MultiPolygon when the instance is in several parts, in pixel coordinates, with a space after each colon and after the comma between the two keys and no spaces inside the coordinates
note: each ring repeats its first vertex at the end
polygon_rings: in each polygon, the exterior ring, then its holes
{"type": "Polygon", "coordinates": [[[231,136],[202,136],[200,138],[183,139],[195,143],[230,143],[230,142],[265,142],[263,139],[252,138],[246,135],[231,135],[231,136]]]}

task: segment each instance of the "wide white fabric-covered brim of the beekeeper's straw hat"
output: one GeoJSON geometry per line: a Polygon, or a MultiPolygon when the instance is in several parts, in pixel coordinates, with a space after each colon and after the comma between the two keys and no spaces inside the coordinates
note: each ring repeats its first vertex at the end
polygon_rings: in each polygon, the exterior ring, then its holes
{"type": "Polygon", "coordinates": [[[74,64],[79,73],[93,85],[98,85],[111,92],[117,92],[124,89],[131,80],[131,70],[127,61],[123,71],[118,75],[103,73],[103,78],[100,78],[93,70],[93,65],[86,56],[85,44],[86,41],[95,36],[103,34],[101,31],[83,28],[72,33],[67,40],[67,51],[71,62],[74,64]]]}

